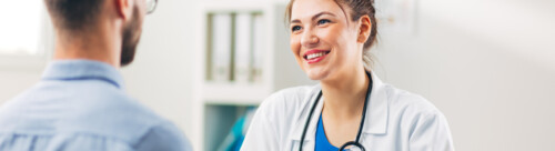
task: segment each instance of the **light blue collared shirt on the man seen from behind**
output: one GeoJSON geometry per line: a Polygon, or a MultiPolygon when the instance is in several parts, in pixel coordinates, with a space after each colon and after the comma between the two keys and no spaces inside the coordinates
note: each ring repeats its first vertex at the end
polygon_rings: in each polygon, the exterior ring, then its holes
{"type": "Polygon", "coordinates": [[[119,71],[53,61],[42,80],[0,108],[0,151],[189,151],[170,121],[131,99],[119,71]]]}

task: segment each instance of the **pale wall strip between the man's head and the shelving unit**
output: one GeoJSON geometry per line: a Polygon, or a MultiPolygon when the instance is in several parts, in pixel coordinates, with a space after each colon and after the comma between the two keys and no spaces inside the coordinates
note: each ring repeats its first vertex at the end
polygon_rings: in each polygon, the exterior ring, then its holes
{"type": "Polygon", "coordinates": [[[147,16],[134,62],[122,69],[127,91],[190,135],[199,1],[161,0],[147,16]]]}

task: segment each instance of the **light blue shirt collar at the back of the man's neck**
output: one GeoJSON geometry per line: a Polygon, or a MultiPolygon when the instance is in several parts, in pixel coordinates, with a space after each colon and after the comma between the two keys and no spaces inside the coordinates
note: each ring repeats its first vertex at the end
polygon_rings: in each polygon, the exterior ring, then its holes
{"type": "Polygon", "coordinates": [[[42,80],[99,79],[123,89],[123,78],[112,66],[93,60],[57,60],[46,68],[42,80]]]}

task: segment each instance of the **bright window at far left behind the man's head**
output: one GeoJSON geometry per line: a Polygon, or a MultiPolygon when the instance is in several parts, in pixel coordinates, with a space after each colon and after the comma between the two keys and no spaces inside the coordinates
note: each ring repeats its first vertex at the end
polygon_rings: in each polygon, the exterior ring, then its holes
{"type": "Polygon", "coordinates": [[[43,0],[2,0],[0,20],[0,66],[43,64],[53,48],[43,0]]]}

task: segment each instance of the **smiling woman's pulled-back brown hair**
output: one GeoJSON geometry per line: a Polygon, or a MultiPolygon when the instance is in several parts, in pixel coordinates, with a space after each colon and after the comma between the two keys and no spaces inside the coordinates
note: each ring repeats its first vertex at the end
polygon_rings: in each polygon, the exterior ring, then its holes
{"type": "MultiPolygon", "coordinates": [[[[291,9],[293,8],[293,2],[295,0],[291,0],[285,10],[286,22],[289,23],[291,20],[291,9]]],[[[372,67],[372,54],[370,53],[370,48],[376,43],[377,36],[377,23],[375,17],[375,8],[374,0],[333,0],[340,8],[344,11],[342,6],[347,6],[351,9],[351,19],[352,21],[357,21],[362,16],[369,16],[370,21],[372,23],[372,31],[370,32],[369,39],[364,42],[363,47],[363,57],[364,68],[370,70],[372,67]]]]}

